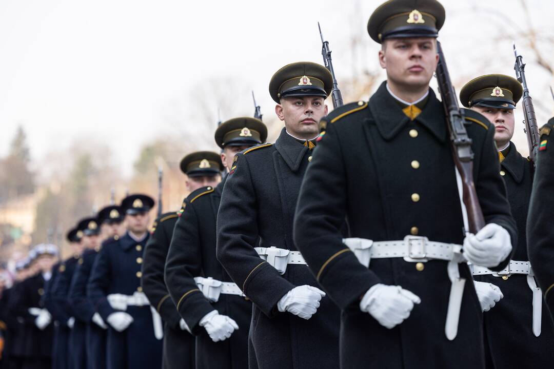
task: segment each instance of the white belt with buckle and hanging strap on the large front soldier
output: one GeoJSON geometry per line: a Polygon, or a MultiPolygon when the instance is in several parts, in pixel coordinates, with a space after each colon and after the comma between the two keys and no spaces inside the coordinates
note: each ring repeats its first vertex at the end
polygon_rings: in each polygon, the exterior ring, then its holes
{"type": "Polygon", "coordinates": [[[450,282],[447,318],[444,332],[449,340],[458,334],[461,299],[464,295],[465,279],[460,278],[458,264],[465,262],[461,245],[429,241],[427,237],[406,236],[398,241],[372,241],[366,238],[345,238],[345,245],[356,255],[365,267],[371,259],[403,258],[407,262],[427,262],[430,259],[448,261],[447,273],[450,282]]]}

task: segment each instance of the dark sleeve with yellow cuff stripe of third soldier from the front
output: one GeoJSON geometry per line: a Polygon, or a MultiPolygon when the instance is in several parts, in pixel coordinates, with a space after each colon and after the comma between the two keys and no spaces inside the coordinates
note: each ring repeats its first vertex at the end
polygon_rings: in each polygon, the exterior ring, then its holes
{"type": "Polygon", "coordinates": [[[202,331],[200,320],[214,308],[194,282],[194,277],[202,276],[200,225],[193,204],[188,200],[183,204],[167,254],[165,277],[179,314],[196,335],[202,331]]]}

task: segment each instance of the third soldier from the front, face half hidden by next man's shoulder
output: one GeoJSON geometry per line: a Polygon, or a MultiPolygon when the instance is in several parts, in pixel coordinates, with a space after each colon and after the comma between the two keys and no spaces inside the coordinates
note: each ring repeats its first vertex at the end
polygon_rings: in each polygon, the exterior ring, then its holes
{"type": "MultiPolygon", "coordinates": [[[[258,119],[229,119],[216,131],[216,142],[223,149],[221,159],[214,153],[212,160],[230,170],[235,154],[264,142],[266,137],[267,128],[258,119]]],[[[188,169],[187,176],[209,173],[207,168],[183,167],[188,169]]],[[[211,175],[218,175],[219,169],[213,168],[211,175]]],[[[216,258],[216,221],[223,186],[224,181],[215,187],[194,189],[184,199],[166,263],[166,281],[179,303],[179,313],[191,331],[198,334],[197,368],[248,367],[252,303],[245,299],[216,258]],[[189,291],[193,292],[187,294],[189,291]],[[214,339],[214,333],[203,322],[216,314],[232,319],[238,330],[231,326],[230,337],[214,339]]]]}

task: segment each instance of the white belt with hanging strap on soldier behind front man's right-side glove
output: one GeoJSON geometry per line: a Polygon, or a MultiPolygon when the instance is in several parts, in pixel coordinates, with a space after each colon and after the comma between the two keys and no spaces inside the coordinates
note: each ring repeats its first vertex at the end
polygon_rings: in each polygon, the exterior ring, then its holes
{"type": "Polygon", "coordinates": [[[527,285],[531,292],[533,293],[532,305],[533,305],[533,319],[532,319],[532,329],[533,334],[538,337],[541,335],[541,325],[542,325],[542,294],[541,288],[537,286],[535,281],[535,274],[531,268],[531,263],[528,261],[516,261],[510,260],[506,268],[501,271],[491,271],[485,267],[480,267],[478,265],[471,265],[471,271],[474,276],[484,276],[486,274],[491,274],[494,277],[510,277],[512,274],[523,274],[527,276],[527,285]]]}

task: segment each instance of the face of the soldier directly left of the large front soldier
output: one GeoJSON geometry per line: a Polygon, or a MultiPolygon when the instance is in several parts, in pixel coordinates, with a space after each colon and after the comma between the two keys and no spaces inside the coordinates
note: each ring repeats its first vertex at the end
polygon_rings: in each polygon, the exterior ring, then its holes
{"type": "Polygon", "coordinates": [[[320,96],[283,97],[275,113],[295,137],[311,139],[319,132],[319,121],[327,115],[325,99],[320,96]]]}

